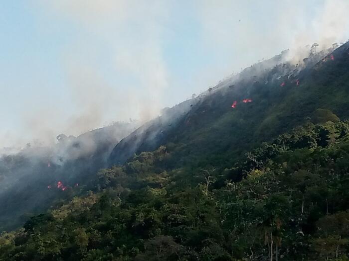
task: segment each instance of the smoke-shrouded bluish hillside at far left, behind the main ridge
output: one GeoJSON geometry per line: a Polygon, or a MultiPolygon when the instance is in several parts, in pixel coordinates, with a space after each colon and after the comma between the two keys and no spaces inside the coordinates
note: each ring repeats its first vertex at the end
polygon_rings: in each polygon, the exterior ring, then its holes
{"type": "Polygon", "coordinates": [[[84,190],[91,176],[106,168],[113,147],[138,123],[115,123],[78,137],[61,134],[54,146],[27,146],[0,158],[0,231],[22,225],[29,216],[84,190]],[[58,181],[66,187],[53,190],[58,181]],[[78,184],[78,185],[76,185],[78,184]]]}

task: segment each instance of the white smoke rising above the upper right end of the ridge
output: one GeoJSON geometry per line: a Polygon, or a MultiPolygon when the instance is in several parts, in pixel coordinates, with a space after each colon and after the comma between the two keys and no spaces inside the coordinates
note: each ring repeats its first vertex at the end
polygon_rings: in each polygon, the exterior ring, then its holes
{"type": "Polygon", "coordinates": [[[231,72],[290,49],[302,61],[313,43],[324,50],[349,38],[348,0],[216,1],[198,4],[203,44],[215,52],[219,67],[202,72],[214,85],[231,72]]]}

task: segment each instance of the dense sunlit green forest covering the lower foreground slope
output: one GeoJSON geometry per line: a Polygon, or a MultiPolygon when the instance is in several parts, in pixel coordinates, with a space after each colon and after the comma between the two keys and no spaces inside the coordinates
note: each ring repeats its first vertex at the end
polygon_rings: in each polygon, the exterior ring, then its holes
{"type": "Polygon", "coordinates": [[[0,260],[348,260],[349,123],[335,115],[229,168],[174,168],[178,145],[100,171],[95,191],[2,233],[0,260]]]}

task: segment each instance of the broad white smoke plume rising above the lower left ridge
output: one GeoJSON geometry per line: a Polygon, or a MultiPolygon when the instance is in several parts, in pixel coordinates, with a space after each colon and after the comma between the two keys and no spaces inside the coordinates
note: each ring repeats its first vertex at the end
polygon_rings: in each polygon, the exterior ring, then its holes
{"type": "MultiPolygon", "coordinates": [[[[58,105],[45,96],[28,102],[16,119],[16,130],[0,133],[0,147],[23,147],[33,139],[52,144],[59,133],[78,136],[113,121],[146,122],[159,115],[169,81],[161,46],[167,4],[132,0],[31,4],[43,19],[78,28],[78,35],[62,47],[61,59],[54,61],[63,68],[66,98],[58,105]],[[103,48],[109,57],[100,57],[103,48]]],[[[40,84],[50,88],[48,81],[40,84]]]]}

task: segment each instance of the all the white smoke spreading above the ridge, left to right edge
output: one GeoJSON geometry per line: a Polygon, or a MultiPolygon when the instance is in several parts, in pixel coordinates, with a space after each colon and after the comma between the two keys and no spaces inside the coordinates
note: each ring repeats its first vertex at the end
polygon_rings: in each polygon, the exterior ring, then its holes
{"type": "MultiPolygon", "coordinates": [[[[39,0],[30,4],[38,19],[51,26],[57,23],[55,33],[67,24],[75,28],[76,34],[68,36],[73,40],[61,49],[61,60],[54,61],[64,68],[62,89],[67,97],[59,106],[41,96],[28,101],[22,115],[13,116],[16,131],[1,130],[1,147],[24,146],[33,138],[52,143],[59,133],[77,136],[111,121],[147,121],[162,107],[282,50],[290,49],[289,59],[298,63],[308,56],[313,43],[319,44],[320,51],[349,37],[348,0],[202,0],[186,4],[39,0]],[[190,67],[190,78],[172,71],[169,64],[176,54],[165,52],[169,39],[187,37],[175,27],[175,21],[181,19],[189,21],[190,37],[196,39],[187,48],[203,57],[202,64],[190,67]]],[[[40,26],[46,28],[46,24],[40,26]]],[[[185,56],[180,58],[183,65],[190,62],[185,56]]],[[[38,84],[48,91],[51,87],[44,77],[38,84]]]]}

